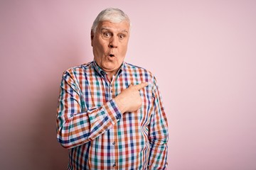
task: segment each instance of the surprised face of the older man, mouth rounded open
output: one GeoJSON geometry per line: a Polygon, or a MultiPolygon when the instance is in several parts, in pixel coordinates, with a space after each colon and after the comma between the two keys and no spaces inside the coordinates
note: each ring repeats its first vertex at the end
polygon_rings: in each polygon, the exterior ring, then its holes
{"type": "Polygon", "coordinates": [[[114,75],[124,61],[129,40],[129,23],[102,21],[95,33],[91,33],[91,43],[95,62],[110,76],[114,75]]]}

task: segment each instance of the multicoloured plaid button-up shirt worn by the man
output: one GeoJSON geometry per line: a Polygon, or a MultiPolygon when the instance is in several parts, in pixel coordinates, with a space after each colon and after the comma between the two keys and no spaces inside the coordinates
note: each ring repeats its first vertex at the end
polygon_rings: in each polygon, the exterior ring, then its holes
{"type": "Polygon", "coordinates": [[[69,149],[68,169],[166,169],[168,127],[156,79],[124,62],[112,81],[96,62],[63,73],[57,138],[69,149]],[[130,84],[142,107],[121,113],[114,97],[130,84]]]}

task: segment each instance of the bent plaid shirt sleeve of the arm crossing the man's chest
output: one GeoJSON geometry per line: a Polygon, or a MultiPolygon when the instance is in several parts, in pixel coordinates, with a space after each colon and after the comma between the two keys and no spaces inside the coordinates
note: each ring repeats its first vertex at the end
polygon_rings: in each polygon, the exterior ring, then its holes
{"type": "Polygon", "coordinates": [[[65,72],[60,84],[56,118],[57,139],[65,148],[94,140],[112,128],[122,116],[114,99],[98,108],[82,109],[80,95],[75,76],[65,72]]]}

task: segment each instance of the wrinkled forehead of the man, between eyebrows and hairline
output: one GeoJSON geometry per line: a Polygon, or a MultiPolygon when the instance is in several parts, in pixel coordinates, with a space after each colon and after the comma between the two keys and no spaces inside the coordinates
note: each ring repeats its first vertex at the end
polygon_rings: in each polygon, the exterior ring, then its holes
{"type": "Polygon", "coordinates": [[[110,21],[102,21],[98,25],[98,31],[110,30],[113,32],[126,32],[129,33],[129,23],[127,21],[122,21],[120,23],[112,23],[110,21]]]}

